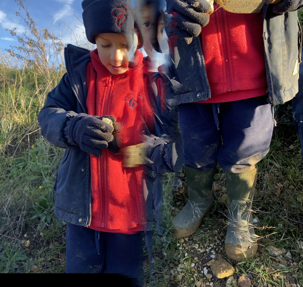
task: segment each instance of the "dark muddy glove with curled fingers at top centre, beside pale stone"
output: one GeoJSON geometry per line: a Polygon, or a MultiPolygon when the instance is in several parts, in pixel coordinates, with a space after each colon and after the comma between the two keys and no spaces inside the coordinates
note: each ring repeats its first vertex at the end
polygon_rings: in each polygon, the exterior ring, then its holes
{"type": "Polygon", "coordinates": [[[201,26],[209,22],[209,15],[213,12],[213,5],[206,0],[166,0],[167,12],[175,15],[172,29],[179,39],[190,44],[193,36],[201,33],[201,26]]]}

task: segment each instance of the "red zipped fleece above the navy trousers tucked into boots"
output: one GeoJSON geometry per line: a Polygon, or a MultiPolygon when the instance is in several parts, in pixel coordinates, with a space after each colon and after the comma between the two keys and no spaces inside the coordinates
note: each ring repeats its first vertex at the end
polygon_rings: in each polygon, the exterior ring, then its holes
{"type": "Polygon", "coordinates": [[[201,40],[211,98],[230,102],[266,94],[262,12],[230,13],[218,5],[201,40]]]}

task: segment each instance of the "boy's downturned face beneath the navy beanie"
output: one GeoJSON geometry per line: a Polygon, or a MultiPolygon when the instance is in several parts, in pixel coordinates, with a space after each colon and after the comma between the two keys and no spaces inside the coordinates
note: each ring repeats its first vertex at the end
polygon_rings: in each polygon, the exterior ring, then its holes
{"type": "Polygon", "coordinates": [[[102,64],[114,75],[128,70],[128,50],[123,34],[102,33],[96,37],[98,54],[102,64]]]}

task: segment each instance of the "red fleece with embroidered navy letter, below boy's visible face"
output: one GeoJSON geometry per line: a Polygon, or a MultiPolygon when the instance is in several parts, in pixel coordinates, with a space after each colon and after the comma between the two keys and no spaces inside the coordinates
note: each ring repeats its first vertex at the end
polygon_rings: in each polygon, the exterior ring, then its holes
{"type": "MultiPolygon", "coordinates": [[[[146,91],[143,55],[135,54],[134,68],[113,75],[101,63],[98,50],[87,66],[89,115],[112,115],[121,123],[120,148],[142,142],[144,122],[153,130],[153,117],[146,91]]],[[[122,155],[107,149],[97,158],[90,155],[92,220],[89,228],[103,232],[133,233],[144,230],[145,200],[143,168],[124,168],[122,155]]]]}

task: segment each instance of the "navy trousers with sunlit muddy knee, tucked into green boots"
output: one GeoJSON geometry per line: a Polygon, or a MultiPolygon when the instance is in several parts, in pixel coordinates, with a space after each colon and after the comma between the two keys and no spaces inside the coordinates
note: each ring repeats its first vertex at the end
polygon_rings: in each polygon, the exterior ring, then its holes
{"type": "Polygon", "coordinates": [[[268,97],[179,105],[185,166],[231,173],[254,168],[269,151],[274,122],[268,97]]]}

